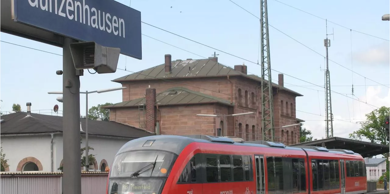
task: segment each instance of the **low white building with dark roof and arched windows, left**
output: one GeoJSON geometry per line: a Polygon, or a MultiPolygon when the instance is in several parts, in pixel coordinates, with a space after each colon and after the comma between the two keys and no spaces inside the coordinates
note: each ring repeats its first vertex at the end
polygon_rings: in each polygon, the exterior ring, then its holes
{"type": "MultiPolygon", "coordinates": [[[[85,118],[80,121],[82,148],[85,147],[85,118]]],[[[88,134],[88,144],[94,148],[89,154],[96,158],[94,171],[110,167],[115,154],[126,142],[154,135],[130,125],[97,120],[88,121],[88,134]]],[[[8,159],[9,167],[5,171],[58,172],[63,159],[62,116],[25,112],[0,116],[0,142],[8,159]]]]}

